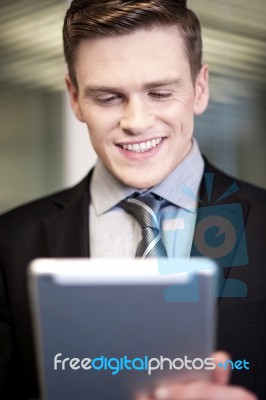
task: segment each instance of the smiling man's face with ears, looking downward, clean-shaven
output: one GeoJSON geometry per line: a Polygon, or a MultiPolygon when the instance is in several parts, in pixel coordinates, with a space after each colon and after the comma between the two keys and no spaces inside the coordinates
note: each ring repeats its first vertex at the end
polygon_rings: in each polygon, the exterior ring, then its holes
{"type": "Polygon", "coordinates": [[[160,183],[189,152],[208,102],[207,67],[193,84],[178,28],[84,40],[75,71],[72,108],[105,166],[134,188],[160,183]]]}

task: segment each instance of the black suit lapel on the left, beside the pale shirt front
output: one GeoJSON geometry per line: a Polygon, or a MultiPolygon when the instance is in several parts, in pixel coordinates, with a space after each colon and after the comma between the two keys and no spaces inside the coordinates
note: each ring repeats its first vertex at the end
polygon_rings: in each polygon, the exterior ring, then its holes
{"type": "Polygon", "coordinates": [[[49,257],[89,257],[90,177],[54,198],[57,212],[44,220],[49,257]]]}

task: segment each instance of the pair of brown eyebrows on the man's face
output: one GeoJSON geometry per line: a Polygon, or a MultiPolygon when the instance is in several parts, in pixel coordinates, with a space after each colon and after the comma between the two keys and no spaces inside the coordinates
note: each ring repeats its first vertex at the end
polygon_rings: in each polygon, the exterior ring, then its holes
{"type": "MultiPolygon", "coordinates": [[[[175,85],[177,87],[182,87],[184,84],[183,79],[162,79],[154,82],[148,82],[143,85],[143,89],[154,89],[161,86],[175,85]]],[[[118,86],[101,86],[101,85],[87,85],[84,88],[85,97],[89,97],[97,92],[105,93],[122,93],[124,90],[122,87],[118,86]]]]}

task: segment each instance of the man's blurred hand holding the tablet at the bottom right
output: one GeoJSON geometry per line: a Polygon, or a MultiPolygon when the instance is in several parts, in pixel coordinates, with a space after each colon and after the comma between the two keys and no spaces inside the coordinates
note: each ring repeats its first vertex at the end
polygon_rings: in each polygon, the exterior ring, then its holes
{"type": "MultiPolygon", "coordinates": [[[[215,363],[224,363],[230,356],[224,352],[213,354],[215,363]]],[[[193,381],[158,387],[148,396],[136,400],[258,400],[257,397],[239,386],[227,385],[229,369],[216,368],[211,381],[193,381]]]]}

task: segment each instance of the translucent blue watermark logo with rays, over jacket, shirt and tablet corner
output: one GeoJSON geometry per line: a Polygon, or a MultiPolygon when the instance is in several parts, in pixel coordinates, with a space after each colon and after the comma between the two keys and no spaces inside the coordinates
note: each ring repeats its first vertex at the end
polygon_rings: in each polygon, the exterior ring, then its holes
{"type": "MultiPolygon", "coordinates": [[[[233,183],[217,199],[213,199],[214,174],[205,174],[204,181],[207,193],[206,202],[198,199],[197,195],[188,187],[183,188],[183,194],[199,202],[191,255],[193,257],[207,257],[217,262],[219,276],[215,295],[247,297],[246,284],[239,279],[225,280],[223,271],[223,268],[226,267],[244,267],[249,261],[242,205],[240,203],[220,203],[237,192],[239,187],[236,183],[233,183]]],[[[184,229],[186,229],[186,221],[184,221],[184,229]]],[[[158,265],[160,272],[164,273],[163,259],[158,259],[158,265]]],[[[190,272],[179,271],[178,268],[177,265],[172,273],[190,272]]],[[[190,283],[184,288],[174,290],[173,286],[169,286],[165,291],[166,301],[198,301],[198,285],[198,279],[192,276],[190,283]]]]}

